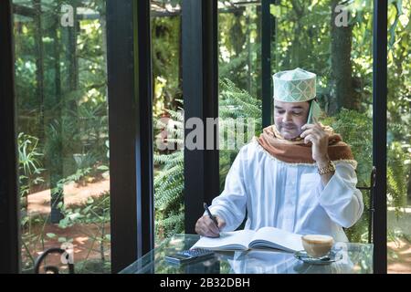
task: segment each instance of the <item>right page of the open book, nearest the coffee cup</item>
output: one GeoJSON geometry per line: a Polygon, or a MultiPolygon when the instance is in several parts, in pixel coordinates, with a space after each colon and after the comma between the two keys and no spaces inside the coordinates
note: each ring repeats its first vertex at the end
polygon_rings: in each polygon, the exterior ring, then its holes
{"type": "Polygon", "coordinates": [[[263,227],[253,236],[252,248],[278,248],[290,252],[303,250],[301,235],[296,235],[275,227],[263,227]]]}

